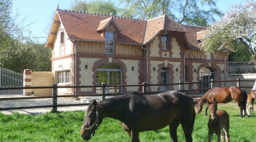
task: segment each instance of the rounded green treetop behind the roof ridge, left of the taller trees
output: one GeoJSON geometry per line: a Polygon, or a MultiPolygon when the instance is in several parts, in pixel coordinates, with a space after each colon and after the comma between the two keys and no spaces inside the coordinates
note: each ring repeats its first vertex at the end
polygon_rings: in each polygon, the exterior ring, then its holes
{"type": "Polygon", "coordinates": [[[112,13],[113,15],[117,15],[117,7],[112,2],[107,1],[83,1],[83,0],[75,0],[71,3],[71,10],[76,11],[84,11],[84,12],[90,12],[90,13],[98,13],[98,14],[106,14],[110,15],[112,13]]]}

